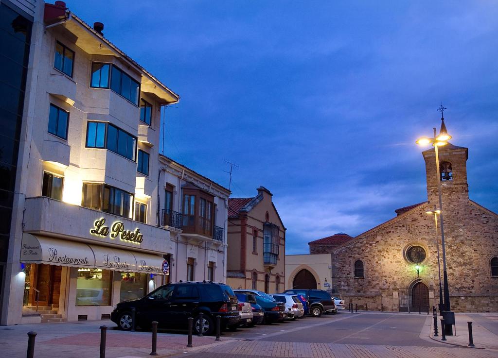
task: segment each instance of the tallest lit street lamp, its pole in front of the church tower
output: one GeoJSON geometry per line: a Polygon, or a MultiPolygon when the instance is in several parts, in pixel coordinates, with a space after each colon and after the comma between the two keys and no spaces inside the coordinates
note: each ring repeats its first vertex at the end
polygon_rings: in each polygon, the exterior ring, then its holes
{"type": "MultiPolygon", "coordinates": [[[[448,134],[446,130],[446,126],[444,124],[444,116],[443,116],[443,111],[444,111],[443,105],[441,104],[441,107],[439,107],[439,111],[441,111],[441,129],[439,130],[439,135],[436,133],[436,128],[433,128],[434,130],[434,137],[429,138],[429,137],[422,137],[416,141],[417,144],[420,145],[427,145],[429,143],[432,143],[434,146],[434,151],[436,154],[436,174],[437,174],[437,189],[438,189],[438,195],[439,195],[439,216],[441,218],[441,247],[443,249],[443,285],[444,285],[444,310],[445,311],[451,311],[451,305],[450,305],[450,290],[448,288],[448,273],[446,271],[446,248],[444,245],[444,221],[443,221],[443,200],[441,198],[441,174],[439,173],[439,152],[438,152],[438,147],[444,146],[448,144],[448,140],[451,139],[451,136],[448,134]]],[[[450,326],[451,327],[451,326],[450,326]]]]}

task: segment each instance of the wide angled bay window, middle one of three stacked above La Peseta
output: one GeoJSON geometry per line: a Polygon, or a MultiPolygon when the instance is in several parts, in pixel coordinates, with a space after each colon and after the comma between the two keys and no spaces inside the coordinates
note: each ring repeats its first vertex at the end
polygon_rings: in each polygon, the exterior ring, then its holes
{"type": "Polygon", "coordinates": [[[135,161],[136,137],[111,123],[88,121],[86,146],[88,148],[106,148],[124,158],[135,161]]]}

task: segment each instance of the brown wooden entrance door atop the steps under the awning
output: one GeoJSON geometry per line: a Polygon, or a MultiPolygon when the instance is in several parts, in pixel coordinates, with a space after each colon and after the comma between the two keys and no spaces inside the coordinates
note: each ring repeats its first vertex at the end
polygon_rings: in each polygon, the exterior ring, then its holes
{"type": "Polygon", "coordinates": [[[62,267],[40,264],[36,267],[35,287],[40,291],[40,306],[59,306],[62,267]]]}

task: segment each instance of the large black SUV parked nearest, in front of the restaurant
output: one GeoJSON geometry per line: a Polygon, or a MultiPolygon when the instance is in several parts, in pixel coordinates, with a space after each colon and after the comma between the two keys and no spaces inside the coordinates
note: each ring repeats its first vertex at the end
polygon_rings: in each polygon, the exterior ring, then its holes
{"type": "Polygon", "coordinates": [[[118,303],[111,320],[121,329],[131,329],[134,308],[134,324],[140,328],[148,329],[152,321],[157,321],[162,328],[186,328],[188,317],[193,317],[193,329],[199,333],[199,313],[202,312],[202,333],[209,335],[214,332],[216,316],[221,316],[223,326],[239,322],[237,302],[232,288],[223,283],[168,283],[138,300],[118,303]]]}

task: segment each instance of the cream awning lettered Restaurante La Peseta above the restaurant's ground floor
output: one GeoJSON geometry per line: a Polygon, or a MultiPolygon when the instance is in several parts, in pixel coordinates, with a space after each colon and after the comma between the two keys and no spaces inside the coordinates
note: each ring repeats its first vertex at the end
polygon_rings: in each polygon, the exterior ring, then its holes
{"type": "Polygon", "coordinates": [[[22,263],[163,274],[163,261],[159,255],[22,234],[22,263]]]}

